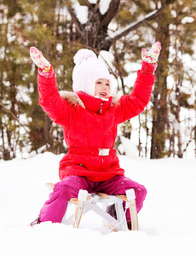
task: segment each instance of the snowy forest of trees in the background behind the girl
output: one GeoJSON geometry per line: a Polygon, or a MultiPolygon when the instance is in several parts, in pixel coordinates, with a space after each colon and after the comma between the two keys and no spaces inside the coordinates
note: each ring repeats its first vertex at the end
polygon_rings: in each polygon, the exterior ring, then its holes
{"type": "Polygon", "coordinates": [[[55,68],[59,90],[72,90],[72,57],[95,50],[117,92],[133,90],[141,49],[162,50],[151,102],[119,126],[115,147],[135,144],[151,159],[196,156],[196,1],[0,0],[0,159],[66,152],[61,127],[38,104],[36,46],[55,68]],[[189,150],[189,151],[188,151],[189,150]],[[188,153],[189,154],[189,153],[188,153]]]}

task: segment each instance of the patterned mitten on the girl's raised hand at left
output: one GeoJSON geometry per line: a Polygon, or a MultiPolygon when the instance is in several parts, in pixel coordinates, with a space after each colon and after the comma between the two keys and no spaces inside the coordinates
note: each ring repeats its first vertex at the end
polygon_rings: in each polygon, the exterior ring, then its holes
{"type": "Polygon", "coordinates": [[[32,61],[37,65],[37,67],[40,67],[43,72],[47,72],[50,70],[50,64],[49,61],[47,61],[40,50],[38,50],[36,47],[30,48],[30,56],[32,58],[32,61]]]}

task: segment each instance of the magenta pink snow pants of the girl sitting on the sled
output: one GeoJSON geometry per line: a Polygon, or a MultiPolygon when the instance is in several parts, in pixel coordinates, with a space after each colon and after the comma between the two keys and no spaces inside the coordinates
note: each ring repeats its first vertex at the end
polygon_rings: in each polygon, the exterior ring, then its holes
{"type": "MultiPolygon", "coordinates": [[[[112,177],[112,179],[104,182],[91,182],[86,177],[67,176],[61,182],[55,183],[55,188],[49,195],[49,200],[45,202],[40,211],[39,218],[41,222],[61,223],[69,199],[77,198],[79,189],[87,190],[90,194],[102,192],[107,195],[125,195],[126,190],[134,189],[137,212],[141,210],[147,195],[147,189],[143,185],[124,176],[112,177]]],[[[127,221],[130,220],[129,209],[126,212],[126,218],[127,221]]]]}

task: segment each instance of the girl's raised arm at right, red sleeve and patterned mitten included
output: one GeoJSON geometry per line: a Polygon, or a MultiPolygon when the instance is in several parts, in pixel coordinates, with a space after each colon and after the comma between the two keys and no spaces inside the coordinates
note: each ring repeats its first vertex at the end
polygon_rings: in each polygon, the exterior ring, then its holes
{"type": "Polygon", "coordinates": [[[129,96],[120,98],[117,108],[118,124],[141,113],[150,101],[160,49],[161,45],[157,42],[148,52],[146,49],[141,50],[141,70],[137,72],[134,90],[129,96]]]}

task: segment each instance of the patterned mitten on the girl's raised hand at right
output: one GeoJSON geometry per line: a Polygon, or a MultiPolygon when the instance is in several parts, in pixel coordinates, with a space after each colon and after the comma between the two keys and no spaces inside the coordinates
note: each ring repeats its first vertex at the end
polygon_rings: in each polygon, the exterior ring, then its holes
{"type": "Polygon", "coordinates": [[[141,49],[141,58],[151,64],[156,64],[159,58],[159,53],[161,50],[160,42],[156,42],[152,45],[151,49],[147,52],[147,49],[141,49]]]}

